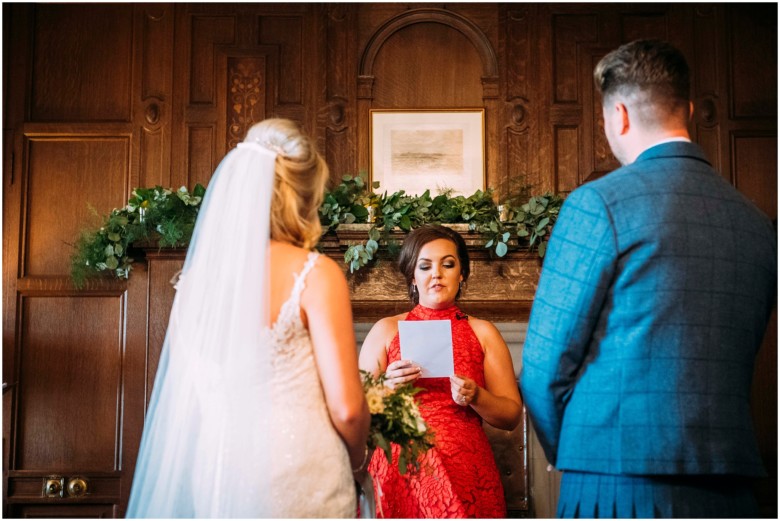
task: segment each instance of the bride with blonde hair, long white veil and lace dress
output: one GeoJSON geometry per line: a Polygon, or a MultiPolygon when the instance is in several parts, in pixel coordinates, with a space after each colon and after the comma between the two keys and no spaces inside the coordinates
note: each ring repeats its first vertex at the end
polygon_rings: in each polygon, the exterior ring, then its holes
{"type": "Polygon", "coordinates": [[[369,413],[349,290],[311,251],[328,169],[289,120],[215,172],[187,252],[127,517],[354,517],[369,413]]]}

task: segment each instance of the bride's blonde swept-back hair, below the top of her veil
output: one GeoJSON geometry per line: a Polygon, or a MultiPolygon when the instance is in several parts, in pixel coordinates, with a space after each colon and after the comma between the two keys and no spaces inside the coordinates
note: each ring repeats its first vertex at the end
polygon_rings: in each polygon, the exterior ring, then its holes
{"type": "Polygon", "coordinates": [[[276,152],[271,239],[311,249],[320,240],[319,209],[328,165],[312,140],[289,119],[272,118],[249,129],[245,141],[276,152]]]}

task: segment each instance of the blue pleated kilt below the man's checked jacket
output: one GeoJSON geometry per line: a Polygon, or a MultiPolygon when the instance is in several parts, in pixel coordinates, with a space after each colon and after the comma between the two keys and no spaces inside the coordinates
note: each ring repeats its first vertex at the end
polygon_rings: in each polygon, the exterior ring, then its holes
{"type": "Polygon", "coordinates": [[[619,476],[564,471],[562,518],[755,518],[750,478],[619,476]]]}

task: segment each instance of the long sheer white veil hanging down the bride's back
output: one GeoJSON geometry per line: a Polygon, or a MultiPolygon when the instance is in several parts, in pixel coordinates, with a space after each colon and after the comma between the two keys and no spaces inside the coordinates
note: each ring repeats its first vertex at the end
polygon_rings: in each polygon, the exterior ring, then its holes
{"type": "Polygon", "coordinates": [[[177,284],[127,517],[264,510],[275,161],[276,152],[241,143],[209,183],[177,284]]]}

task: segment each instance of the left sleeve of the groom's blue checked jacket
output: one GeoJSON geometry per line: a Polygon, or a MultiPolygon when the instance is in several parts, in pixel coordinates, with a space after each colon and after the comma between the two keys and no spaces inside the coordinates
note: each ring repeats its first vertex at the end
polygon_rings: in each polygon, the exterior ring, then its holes
{"type": "Polygon", "coordinates": [[[550,237],[520,375],[523,401],[553,465],[566,403],[588,355],[616,263],[614,227],[603,199],[587,186],[575,190],[550,237]]]}

